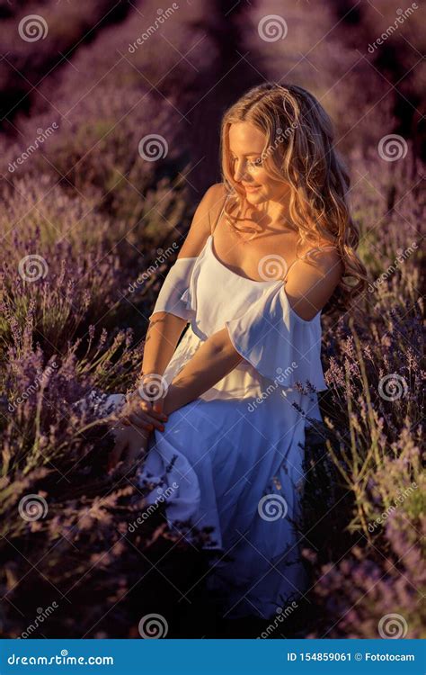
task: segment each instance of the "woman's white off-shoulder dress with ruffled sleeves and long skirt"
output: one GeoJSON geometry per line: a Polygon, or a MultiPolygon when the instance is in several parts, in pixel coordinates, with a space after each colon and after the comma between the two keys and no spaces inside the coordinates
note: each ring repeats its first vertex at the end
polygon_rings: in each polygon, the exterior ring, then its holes
{"type": "MultiPolygon", "coordinates": [[[[198,257],[177,259],[150,319],[156,311],[189,323],[164,372],[167,383],[224,327],[244,360],[174,411],[164,432],[153,432],[138,482],[158,484],[147,502],[163,497],[173,530],[186,520],[213,527],[207,582],[225,617],[276,617],[306,590],[295,521],[305,481],[305,416],[322,419],[306,383],[327,389],[321,312],[303,320],[282,280],[232,272],[218,260],[211,234],[198,257]]],[[[191,540],[191,531],[182,531],[191,540]]]]}

